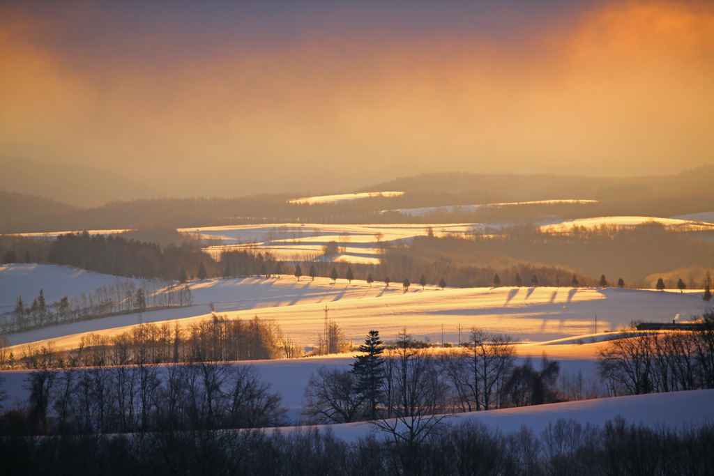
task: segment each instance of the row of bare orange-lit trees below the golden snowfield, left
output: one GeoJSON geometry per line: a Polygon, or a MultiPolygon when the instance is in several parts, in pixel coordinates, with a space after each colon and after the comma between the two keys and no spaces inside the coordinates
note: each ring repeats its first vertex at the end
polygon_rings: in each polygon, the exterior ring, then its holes
{"type": "MultiPolygon", "coordinates": [[[[0,357],[4,354],[0,353],[0,357]]],[[[90,333],[79,347],[61,351],[54,344],[28,344],[21,356],[5,355],[0,368],[78,368],[107,365],[232,362],[300,357],[303,349],[283,336],[271,320],[212,318],[190,325],[178,321],[136,325],[108,338],[90,333]]]]}

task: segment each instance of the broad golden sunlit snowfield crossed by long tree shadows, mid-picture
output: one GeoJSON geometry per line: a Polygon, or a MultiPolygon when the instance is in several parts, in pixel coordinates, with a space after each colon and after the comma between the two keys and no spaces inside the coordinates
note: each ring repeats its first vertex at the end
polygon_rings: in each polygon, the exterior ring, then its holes
{"type": "MultiPolygon", "coordinates": [[[[45,289],[51,303],[62,295],[91,293],[96,285],[113,280],[111,276],[64,266],[4,265],[0,267],[3,290],[0,305],[12,308],[17,295],[31,300],[40,288],[45,289]],[[87,275],[97,279],[91,280],[87,275]]],[[[406,291],[398,283],[388,288],[383,283],[370,287],[360,280],[298,281],[288,275],[277,279],[207,279],[193,281],[190,286],[192,307],[146,312],[144,322],[178,319],[191,323],[208,317],[213,305],[230,318],[258,315],[273,319],[295,343],[309,348],[323,329],[327,308],[328,317],[338,323],[346,338],[355,342],[361,342],[371,329],[379,330],[383,338],[390,340],[406,328],[416,339],[436,343],[442,341],[443,335],[444,342],[456,344],[466,339],[472,327],[477,327],[533,343],[535,347],[524,346],[524,352],[531,355],[539,355],[540,346],[547,345],[549,355],[576,357],[583,353],[592,355],[593,350],[588,350],[592,347],[590,342],[600,338],[585,336],[573,342],[546,342],[615,330],[633,320],[670,322],[675,315],[680,316],[680,321],[688,320],[700,315],[707,305],[696,291],[545,287],[441,290],[434,286],[422,290],[419,285],[406,291]]],[[[84,333],[116,335],[137,322],[138,315],[121,315],[31,330],[9,335],[9,339],[12,345],[54,340],[59,348],[74,348],[84,333]]]]}

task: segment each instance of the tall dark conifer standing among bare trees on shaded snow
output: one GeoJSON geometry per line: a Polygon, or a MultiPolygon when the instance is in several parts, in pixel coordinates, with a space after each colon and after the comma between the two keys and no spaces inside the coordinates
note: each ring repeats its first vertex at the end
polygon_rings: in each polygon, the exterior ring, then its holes
{"type": "Polygon", "coordinates": [[[384,346],[378,330],[370,330],[364,344],[359,346],[362,355],[358,355],[352,364],[352,372],[357,375],[357,390],[368,405],[370,420],[377,418],[377,405],[382,398],[384,380],[384,346]]]}

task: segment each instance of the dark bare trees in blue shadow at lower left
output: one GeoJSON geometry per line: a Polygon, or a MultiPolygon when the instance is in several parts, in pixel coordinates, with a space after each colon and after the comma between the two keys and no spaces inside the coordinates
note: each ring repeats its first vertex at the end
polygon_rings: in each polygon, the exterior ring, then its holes
{"type": "Polygon", "coordinates": [[[97,435],[281,425],[286,410],[251,365],[40,369],[26,402],[0,417],[0,435],[97,435]]]}

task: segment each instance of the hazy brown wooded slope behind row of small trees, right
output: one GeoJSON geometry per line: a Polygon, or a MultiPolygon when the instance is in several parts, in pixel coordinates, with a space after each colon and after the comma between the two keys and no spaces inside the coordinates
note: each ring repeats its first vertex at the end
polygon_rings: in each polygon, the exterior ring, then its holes
{"type": "MultiPolygon", "coordinates": [[[[580,285],[598,285],[598,279],[581,280],[583,275],[606,275],[610,284],[623,278],[628,285],[643,287],[653,284],[645,283],[648,275],[662,270],[714,267],[713,243],[698,240],[687,233],[669,231],[657,223],[632,228],[576,227],[570,233],[544,233],[532,226],[520,226],[500,233],[475,234],[470,238],[423,236],[416,237],[411,246],[398,252],[403,256],[402,260],[441,262],[445,265],[461,263],[462,266],[481,270],[476,271],[478,278],[470,280],[473,284],[447,279],[450,285],[491,285],[492,271],[498,273],[500,269],[513,265],[521,267],[521,278],[526,284],[530,283],[531,273],[535,273],[541,285],[555,285],[555,275],[558,275],[560,285],[570,285],[573,274],[566,270],[579,270],[582,273],[577,277],[580,285]],[[489,263],[489,266],[483,263],[489,263]],[[532,264],[528,269],[523,268],[522,263],[532,264]]],[[[430,282],[433,282],[433,274],[427,273],[430,282]]],[[[506,272],[506,275],[514,276],[512,271],[506,272]]],[[[512,279],[503,278],[501,275],[504,285],[515,284],[512,279]]],[[[675,283],[670,283],[671,287],[675,283]]],[[[688,287],[701,288],[703,283],[688,283],[688,287]]]]}

